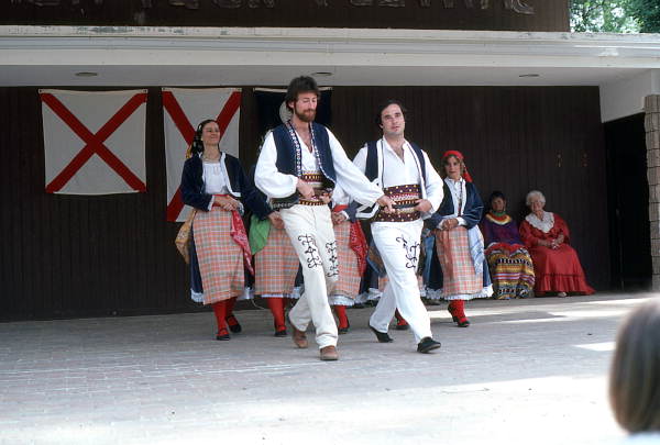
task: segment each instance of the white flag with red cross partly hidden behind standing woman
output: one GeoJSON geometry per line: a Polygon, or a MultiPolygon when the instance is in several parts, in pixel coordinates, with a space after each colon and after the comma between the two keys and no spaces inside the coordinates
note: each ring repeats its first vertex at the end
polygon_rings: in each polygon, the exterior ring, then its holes
{"type": "Polygon", "coordinates": [[[220,149],[239,157],[241,90],[235,88],[163,88],[165,159],[167,163],[167,221],[185,221],[190,209],[184,205],[179,185],[186,152],[197,125],[213,119],[220,126],[220,149]]]}

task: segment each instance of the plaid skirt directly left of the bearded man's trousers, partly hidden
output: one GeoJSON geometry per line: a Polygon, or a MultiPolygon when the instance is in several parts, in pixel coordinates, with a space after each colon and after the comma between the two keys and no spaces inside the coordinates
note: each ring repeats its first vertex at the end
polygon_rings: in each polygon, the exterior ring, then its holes
{"type": "Polygon", "coordinates": [[[298,255],[284,229],[271,225],[266,245],[254,255],[254,293],[290,294],[298,272],[298,255]]]}

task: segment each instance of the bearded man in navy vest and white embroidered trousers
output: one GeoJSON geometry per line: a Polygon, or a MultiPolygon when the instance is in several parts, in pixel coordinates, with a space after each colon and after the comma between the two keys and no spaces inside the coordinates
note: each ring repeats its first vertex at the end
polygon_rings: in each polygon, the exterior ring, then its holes
{"type": "Polygon", "coordinates": [[[321,359],[337,360],[337,324],[328,303],[338,277],[329,192],[337,183],[364,205],[377,202],[385,212],[393,209],[392,200],[351,163],[330,130],[314,122],[319,97],[311,77],[290,81],[285,102],[292,119],[266,136],[254,182],[279,210],[302,268],[305,292],[289,312],[294,343],[308,346],[305,331],[311,321],[321,359]]]}

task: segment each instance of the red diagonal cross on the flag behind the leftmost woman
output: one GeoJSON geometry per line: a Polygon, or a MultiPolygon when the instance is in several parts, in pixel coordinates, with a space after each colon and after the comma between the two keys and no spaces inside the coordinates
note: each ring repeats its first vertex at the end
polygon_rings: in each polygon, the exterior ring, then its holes
{"type": "MultiPolygon", "coordinates": [[[[220,114],[216,118],[216,122],[218,122],[218,126],[220,126],[220,137],[224,136],[224,132],[229,126],[229,123],[233,119],[234,114],[241,107],[241,92],[234,91],[230,94],[227,102],[222,107],[220,114]]],[[[176,98],[172,93],[172,91],[163,91],[163,108],[167,110],[169,116],[174,121],[174,124],[180,132],[186,144],[190,146],[193,144],[193,138],[195,137],[195,127],[190,124],[190,121],[184,113],[184,110],[177,102],[176,98]]],[[[180,187],[172,197],[172,201],[167,204],[167,221],[176,221],[179,213],[184,209],[184,200],[182,198],[180,187]]]]}

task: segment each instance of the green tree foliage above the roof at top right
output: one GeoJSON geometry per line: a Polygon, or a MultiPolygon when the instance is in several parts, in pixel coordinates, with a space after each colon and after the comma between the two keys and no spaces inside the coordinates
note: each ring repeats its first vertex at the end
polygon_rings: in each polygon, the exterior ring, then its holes
{"type": "MultiPolygon", "coordinates": [[[[574,32],[634,33],[639,23],[632,12],[636,3],[658,0],[571,0],[571,30],[574,32]]],[[[660,7],[656,5],[656,9],[660,7]]]]}

